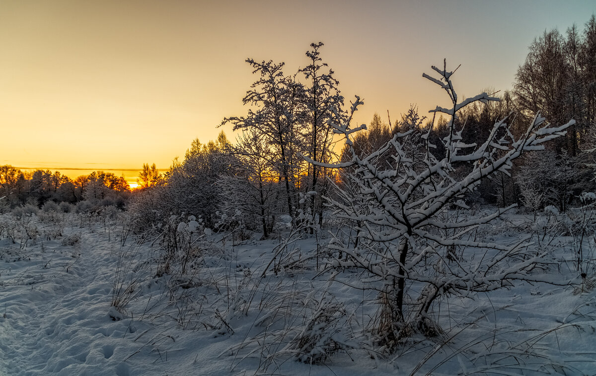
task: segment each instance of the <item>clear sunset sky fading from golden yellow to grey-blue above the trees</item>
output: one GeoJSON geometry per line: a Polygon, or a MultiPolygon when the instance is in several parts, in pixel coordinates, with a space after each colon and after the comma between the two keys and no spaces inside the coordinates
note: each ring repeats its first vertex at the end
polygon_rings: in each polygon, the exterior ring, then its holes
{"type": "MultiPolygon", "coordinates": [[[[461,96],[511,88],[527,46],[596,12],[596,1],[0,1],[0,165],[169,167],[215,139],[255,80],[244,60],[295,73],[311,42],[346,99],[392,120],[445,93],[422,78],[447,58],[461,96]]],[[[347,102],[347,101],[346,101],[347,102]]],[[[235,139],[229,127],[223,128],[235,139]]],[[[71,170],[67,170],[71,169],[71,170]]]]}

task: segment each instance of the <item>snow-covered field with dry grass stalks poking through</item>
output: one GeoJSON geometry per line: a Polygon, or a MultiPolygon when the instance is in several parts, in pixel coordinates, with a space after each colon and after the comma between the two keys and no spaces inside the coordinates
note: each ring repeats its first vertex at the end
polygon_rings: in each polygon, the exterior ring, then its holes
{"type": "Polygon", "coordinates": [[[582,278],[577,237],[544,215],[506,214],[480,234],[533,233],[571,285],[446,296],[432,309],[441,330],[391,355],[370,334],[368,276],[325,270],[338,228],[257,240],[171,224],[138,237],[123,213],[0,216],[0,374],[596,374],[594,239],[582,278]]]}

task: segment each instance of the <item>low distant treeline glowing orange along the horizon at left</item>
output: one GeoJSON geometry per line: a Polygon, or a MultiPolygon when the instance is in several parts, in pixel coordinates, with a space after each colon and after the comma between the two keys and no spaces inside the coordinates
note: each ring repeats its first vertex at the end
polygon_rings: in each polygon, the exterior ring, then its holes
{"type": "Polygon", "coordinates": [[[94,171],[75,179],[60,171],[21,171],[0,166],[0,208],[31,204],[41,208],[47,202],[78,203],[83,200],[123,208],[131,189],[125,178],[94,171]]]}

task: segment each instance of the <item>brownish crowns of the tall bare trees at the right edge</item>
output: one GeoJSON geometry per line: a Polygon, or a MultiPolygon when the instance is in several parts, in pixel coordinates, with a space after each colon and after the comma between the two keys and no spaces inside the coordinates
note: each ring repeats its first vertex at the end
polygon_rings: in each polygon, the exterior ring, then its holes
{"type": "Polygon", "coordinates": [[[517,70],[513,95],[526,118],[541,111],[554,124],[574,119],[575,126],[558,149],[577,156],[596,120],[595,16],[583,32],[574,25],[565,35],[554,29],[534,39],[517,70]]]}

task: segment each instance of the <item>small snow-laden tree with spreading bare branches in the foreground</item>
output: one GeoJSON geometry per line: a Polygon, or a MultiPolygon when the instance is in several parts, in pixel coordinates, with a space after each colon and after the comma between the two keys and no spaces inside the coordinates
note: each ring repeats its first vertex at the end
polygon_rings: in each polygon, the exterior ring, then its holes
{"type": "MultiPolygon", "coordinates": [[[[354,245],[340,237],[333,239],[331,249],[346,258],[337,258],[330,265],[361,268],[370,275],[361,287],[380,292],[380,326],[375,335],[377,343],[388,350],[411,331],[440,331],[431,313],[433,304],[442,296],[488,292],[516,280],[564,283],[539,272],[538,266],[545,261],[544,251],[532,247],[527,238],[507,245],[475,238],[474,229],[514,205],[480,218],[455,215],[454,211],[466,208],[462,198],[483,178],[498,172],[508,174],[514,159],[526,151],[543,149],[545,142],[563,136],[573,122],[550,127],[536,115],[516,137],[504,118],[494,124],[483,143],[466,144],[456,126],[457,112],[472,102],[496,98],[482,93],[460,102],[446,64],[433,70],[439,78],[423,76],[444,89],[452,102],[451,108],[437,106],[430,111],[449,117],[447,135],[441,140],[443,158],[433,155],[436,145],[429,142],[432,127],[397,133],[386,145],[361,157],[353,149],[353,137],[365,126],[350,128],[350,116],[346,122],[332,126],[345,136],[352,158],[339,164],[311,161],[325,167],[355,169],[349,178],[356,192],[348,194],[338,189],[338,199],[330,199],[330,205],[337,215],[357,226],[359,240],[354,245]],[[406,153],[406,145],[416,134],[426,143],[423,168],[406,153]],[[387,152],[392,153],[392,165],[377,164],[378,156],[387,152]],[[467,166],[464,174],[458,173],[460,165],[467,166]],[[367,205],[352,205],[353,200],[341,199],[354,195],[367,205]]],[[[361,104],[356,96],[352,114],[361,104]]]]}

